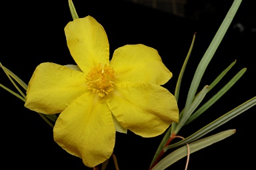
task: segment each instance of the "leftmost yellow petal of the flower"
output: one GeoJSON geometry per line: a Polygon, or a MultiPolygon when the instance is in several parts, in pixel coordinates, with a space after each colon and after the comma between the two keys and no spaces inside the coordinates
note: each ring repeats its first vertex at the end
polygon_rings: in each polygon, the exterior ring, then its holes
{"type": "Polygon", "coordinates": [[[57,114],[85,92],[83,72],[45,62],[37,66],[29,81],[25,107],[43,114],[57,114]]]}

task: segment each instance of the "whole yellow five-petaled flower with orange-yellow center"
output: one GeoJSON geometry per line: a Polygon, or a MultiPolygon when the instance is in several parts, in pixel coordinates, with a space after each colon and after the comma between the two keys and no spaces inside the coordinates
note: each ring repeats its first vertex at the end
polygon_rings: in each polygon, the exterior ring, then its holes
{"type": "Polygon", "coordinates": [[[27,90],[25,107],[57,114],[55,141],[88,167],[109,159],[115,131],[127,129],[142,137],[160,135],[178,122],[174,96],[165,88],[172,76],[157,50],[143,44],[115,50],[93,17],[65,27],[75,65],[39,64],[27,90]]]}

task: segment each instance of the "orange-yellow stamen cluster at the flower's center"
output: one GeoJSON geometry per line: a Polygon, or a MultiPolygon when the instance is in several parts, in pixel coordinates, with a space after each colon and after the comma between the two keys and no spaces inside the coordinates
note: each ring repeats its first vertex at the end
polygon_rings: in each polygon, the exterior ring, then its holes
{"type": "Polygon", "coordinates": [[[92,90],[103,97],[113,90],[115,84],[115,71],[107,64],[99,63],[98,66],[92,68],[86,76],[88,90],[92,90]]]}

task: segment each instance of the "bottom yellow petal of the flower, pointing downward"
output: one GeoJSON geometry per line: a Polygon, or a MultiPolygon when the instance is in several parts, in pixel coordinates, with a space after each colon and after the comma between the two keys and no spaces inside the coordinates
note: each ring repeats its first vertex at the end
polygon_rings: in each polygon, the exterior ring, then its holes
{"type": "Polygon", "coordinates": [[[91,92],[77,98],[57,118],[55,141],[88,167],[103,163],[113,153],[115,126],[105,98],[91,92]]]}

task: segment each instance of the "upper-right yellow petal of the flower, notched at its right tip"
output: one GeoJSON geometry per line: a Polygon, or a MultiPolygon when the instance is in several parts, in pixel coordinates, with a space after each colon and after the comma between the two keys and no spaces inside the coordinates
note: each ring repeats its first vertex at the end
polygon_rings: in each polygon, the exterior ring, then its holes
{"type": "Polygon", "coordinates": [[[110,65],[117,72],[117,81],[163,85],[172,74],[163,64],[157,50],[143,44],[117,48],[110,65]]]}

